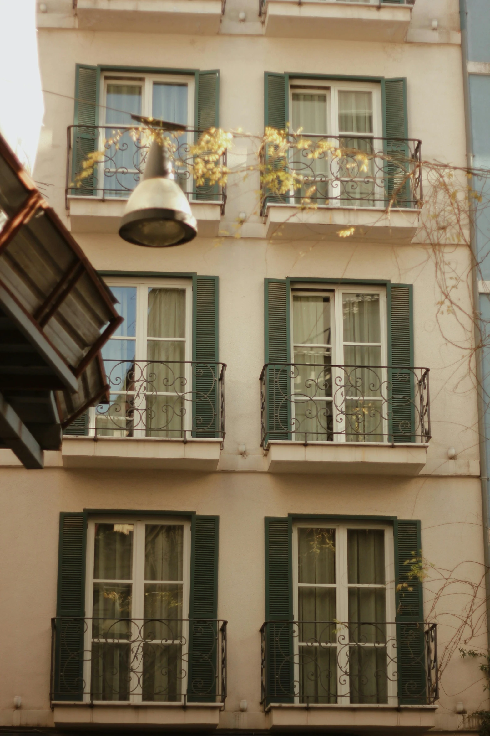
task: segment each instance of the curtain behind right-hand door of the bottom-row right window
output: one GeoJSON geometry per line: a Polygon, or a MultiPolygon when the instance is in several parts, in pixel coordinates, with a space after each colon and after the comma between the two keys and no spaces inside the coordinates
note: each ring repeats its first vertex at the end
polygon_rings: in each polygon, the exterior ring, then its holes
{"type": "Polygon", "coordinates": [[[351,703],[387,703],[384,531],[347,529],[351,703]],[[356,587],[372,585],[381,587],[356,587]]]}

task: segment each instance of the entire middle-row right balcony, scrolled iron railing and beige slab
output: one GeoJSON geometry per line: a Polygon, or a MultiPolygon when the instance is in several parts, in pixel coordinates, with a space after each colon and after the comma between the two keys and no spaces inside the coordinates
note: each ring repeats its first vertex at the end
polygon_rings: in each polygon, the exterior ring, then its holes
{"type": "Polygon", "coordinates": [[[270,473],[417,475],[425,465],[428,368],[268,363],[260,386],[270,473]]]}

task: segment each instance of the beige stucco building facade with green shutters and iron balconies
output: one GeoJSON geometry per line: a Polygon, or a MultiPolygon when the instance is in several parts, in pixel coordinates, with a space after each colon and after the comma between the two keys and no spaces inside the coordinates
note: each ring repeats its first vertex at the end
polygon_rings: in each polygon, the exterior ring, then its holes
{"type": "Polygon", "coordinates": [[[476,731],[488,694],[458,651],[486,649],[469,249],[427,243],[413,180],[386,216],[383,163],[356,180],[308,162],[307,210],[261,207],[256,169],[281,121],[464,166],[457,0],[42,5],[35,179],[125,322],[110,407],[42,471],[0,451],[1,728],[476,731]],[[118,236],[133,141],[72,186],[130,113],[242,132],[226,192],[182,184],[190,243],[118,236]]]}

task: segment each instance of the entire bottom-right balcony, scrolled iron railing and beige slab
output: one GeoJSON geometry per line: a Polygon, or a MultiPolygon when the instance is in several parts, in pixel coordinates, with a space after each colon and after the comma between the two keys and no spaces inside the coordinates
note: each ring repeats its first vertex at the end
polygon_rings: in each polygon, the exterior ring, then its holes
{"type": "Polygon", "coordinates": [[[271,729],[415,734],[434,725],[435,623],[267,621],[260,634],[271,729]]]}

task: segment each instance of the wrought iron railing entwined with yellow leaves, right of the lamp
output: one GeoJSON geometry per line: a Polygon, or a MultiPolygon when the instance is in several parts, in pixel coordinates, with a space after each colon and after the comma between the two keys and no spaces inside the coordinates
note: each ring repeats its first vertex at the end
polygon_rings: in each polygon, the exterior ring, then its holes
{"type": "Polygon", "coordinates": [[[331,207],[422,206],[422,141],[415,138],[374,138],[353,134],[289,135],[292,148],[281,155],[267,144],[262,156],[265,174],[262,214],[267,205],[299,205],[309,199],[331,207]],[[295,147],[301,140],[307,146],[295,147]],[[277,179],[270,181],[270,175],[277,179]],[[287,175],[299,188],[281,194],[287,175]]]}

